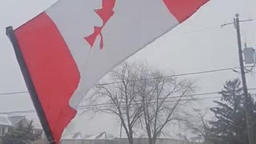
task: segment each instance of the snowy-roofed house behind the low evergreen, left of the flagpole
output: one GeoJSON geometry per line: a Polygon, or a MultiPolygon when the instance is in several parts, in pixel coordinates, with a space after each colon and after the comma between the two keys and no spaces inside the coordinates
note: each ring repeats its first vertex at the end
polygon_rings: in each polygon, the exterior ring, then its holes
{"type": "MultiPolygon", "coordinates": [[[[23,126],[28,126],[30,124],[30,121],[22,115],[0,114],[0,144],[2,143],[2,136],[10,132],[10,130],[15,129],[20,123],[22,123],[23,126]]],[[[41,138],[44,138],[41,126],[35,125],[33,133],[42,134],[41,138]]]]}

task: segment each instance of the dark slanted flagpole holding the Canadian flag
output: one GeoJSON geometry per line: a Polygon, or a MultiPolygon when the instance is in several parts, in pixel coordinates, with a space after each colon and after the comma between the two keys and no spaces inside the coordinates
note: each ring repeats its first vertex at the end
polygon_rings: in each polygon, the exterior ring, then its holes
{"type": "Polygon", "coordinates": [[[27,69],[26,62],[22,56],[22,51],[18,45],[18,40],[14,34],[14,29],[12,26],[6,27],[6,35],[10,39],[10,42],[13,44],[14,52],[16,54],[18,64],[22,70],[22,75],[26,82],[26,87],[29,90],[30,98],[32,99],[34,108],[38,114],[38,118],[39,118],[39,120],[42,124],[42,128],[46,134],[46,138],[50,144],[56,144],[56,142],[54,140],[54,136],[50,130],[49,123],[47,122],[46,114],[44,113],[44,110],[42,109],[41,102],[39,101],[38,94],[35,90],[32,78],[30,77],[30,72],[27,69]]]}

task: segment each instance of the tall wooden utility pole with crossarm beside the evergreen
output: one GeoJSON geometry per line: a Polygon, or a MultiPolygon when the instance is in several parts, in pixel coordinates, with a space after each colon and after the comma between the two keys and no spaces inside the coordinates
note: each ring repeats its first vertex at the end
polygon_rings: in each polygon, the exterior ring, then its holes
{"type": "Polygon", "coordinates": [[[243,88],[243,93],[245,96],[245,107],[246,107],[246,126],[247,126],[247,132],[248,132],[248,139],[249,139],[249,144],[256,144],[254,142],[254,131],[252,130],[251,122],[250,122],[250,114],[249,114],[249,107],[248,107],[248,99],[249,99],[249,94],[248,94],[248,89],[246,85],[246,73],[245,73],[245,66],[243,64],[243,57],[242,57],[242,40],[241,40],[241,34],[240,34],[240,22],[249,22],[252,21],[252,19],[249,20],[243,20],[241,21],[239,19],[239,14],[235,15],[234,22],[226,23],[222,26],[227,26],[230,24],[234,24],[234,27],[237,31],[237,36],[238,36],[238,53],[239,53],[239,63],[240,63],[240,69],[241,69],[241,75],[242,75],[242,88],[243,88]]]}

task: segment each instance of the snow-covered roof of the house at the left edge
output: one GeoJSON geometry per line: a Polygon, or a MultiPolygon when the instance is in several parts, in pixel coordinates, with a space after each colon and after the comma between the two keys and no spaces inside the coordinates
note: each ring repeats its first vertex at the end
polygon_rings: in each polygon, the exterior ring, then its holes
{"type": "Polygon", "coordinates": [[[23,118],[25,118],[25,116],[14,114],[0,114],[0,125],[14,126],[18,121],[23,118]]]}

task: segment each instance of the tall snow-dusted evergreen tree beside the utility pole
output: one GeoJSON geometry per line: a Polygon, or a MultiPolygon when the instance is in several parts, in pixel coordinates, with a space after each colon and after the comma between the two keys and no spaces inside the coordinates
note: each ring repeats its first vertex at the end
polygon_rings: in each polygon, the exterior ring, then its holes
{"type": "MultiPolygon", "coordinates": [[[[222,90],[222,99],[215,101],[218,105],[211,108],[216,121],[210,122],[212,125],[210,139],[216,144],[248,144],[248,134],[246,127],[246,109],[244,106],[240,80],[234,79],[226,82],[222,90]]],[[[250,95],[248,99],[248,109],[250,110],[251,122],[255,121],[255,102],[250,95]]],[[[255,123],[254,123],[255,131],[255,123]]]]}

